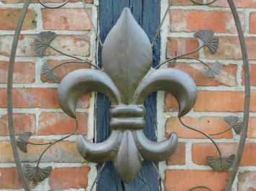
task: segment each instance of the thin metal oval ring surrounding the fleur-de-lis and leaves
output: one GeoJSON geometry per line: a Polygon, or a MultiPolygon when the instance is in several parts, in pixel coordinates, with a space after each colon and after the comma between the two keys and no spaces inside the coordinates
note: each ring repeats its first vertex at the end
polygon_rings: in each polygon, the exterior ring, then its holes
{"type": "MultiPolygon", "coordinates": [[[[30,5],[30,1],[31,0],[25,0],[24,6],[22,8],[22,11],[21,11],[21,14],[19,17],[19,21],[17,23],[17,28],[14,33],[14,40],[12,42],[12,51],[11,51],[11,55],[10,55],[8,81],[7,81],[7,111],[8,111],[9,136],[10,136],[10,140],[11,140],[11,144],[12,144],[14,160],[17,165],[18,172],[19,172],[19,177],[22,180],[22,185],[25,190],[31,190],[31,189],[30,189],[30,185],[28,184],[28,182],[25,178],[25,174],[22,169],[22,163],[19,159],[19,154],[17,151],[16,138],[15,138],[15,134],[14,134],[14,123],[13,123],[14,121],[13,121],[13,108],[12,108],[12,83],[13,83],[14,61],[15,61],[16,52],[17,52],[17,44],[19,41],[19,34],[22,29],[25,15],[27,14],[28,6],[30,5]]],[[[194,0],[191,0],[191,1],[194,1],[194,0]]],[[[227,0],[227,1],[229,3],[231,12],[233,14],[233,17],[234,17],[234,20],[235,20],[235,23],[237,26],[237,32],[239,35],[240,46],[242,49],[242,57],[243,57],[243,62],[244,62],[244,76],[245,76],[244,119],[243,119],[244,126],[242,129],[241,139],[239,141],[237,157],[234,161],[234,166],[233,166],[233,169],[231,172],[231,177],[229,178],[229,182],[226,185],[225,191],[230,191],[231,187],[233,185],[234,179],[237,175],[237,170],[238,170],[241,158],[242,158],[242,151],[244,149],[244,144],[245,144],[246,136],[247,136],[249,112],[250,112],[250,70],[249,70],[249,62],[248,62],[248,55],[247,55],[247,47],[245,44],[244,34],[242,31],[242,24],[239,20],[239,15],[237,13],[236,6],[234,5],[234,1],[233,0],[227,0]]],[[[66,1],[63,4],[65,4],[65,3],[66,3],[66,1]]],[[[211,2],[211,3],[213,3],[213,2],[211,2]]],[[[203,4],[203,5],[207,5],[207,4],[203,4]]],[[[60,6],[58,6],[58,7],[60,7],[60,6]]],[[[56,8],[58,8],[58,7],[56,7],[56,8]]],[[[48,8],[55,9],[53,7],[48,7],[48,8]]]]}

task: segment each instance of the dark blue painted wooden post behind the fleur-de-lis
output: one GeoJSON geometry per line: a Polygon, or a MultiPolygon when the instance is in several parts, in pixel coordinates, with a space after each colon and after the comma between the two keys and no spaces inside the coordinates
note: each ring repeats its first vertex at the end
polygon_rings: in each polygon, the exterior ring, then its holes
{"type": "MultiPolygon", "coordinates": [[[[120,17],[123,8],[129,7],[138,23],[144,29],[149,39],[154,37],[157,27],[160,24],[160,0],[100,0],[99,19],[100,37],[104,41],[110,29],[120,17]]],[[[101,67],[101,47],[98,52],[98,62],[101,67]]],[[[159,63],[160,57],[160,38],[154,46],[154,66],[159,63]]],[[[156,141],[156,93],[153,93],[145,102],[146,106],[146,136],[156,141]]],[[[96,103],[96,141],[102,142],[110,136],[110,102],[108,99],[97,93],[96,103]]],[[[97,183],[97,190],[140,190],[157,191],[159,190],[159,177],[151,162],[144,162],[141,173],[131,184],[124,184],[118,175],[112,162],[107,163],[97,183]]]]}

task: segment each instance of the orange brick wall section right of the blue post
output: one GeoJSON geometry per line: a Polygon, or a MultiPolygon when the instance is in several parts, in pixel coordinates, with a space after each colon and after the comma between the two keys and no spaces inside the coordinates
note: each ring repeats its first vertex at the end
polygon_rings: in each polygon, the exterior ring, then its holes
{"type": "MultiPolygon", "coordinates": [[[[255,126],[255,11],[253,0],[234,0],[238,7],[247,41],[252,73],[252,106],[247,144],[239,168],[239,174],[234,182],[234,190],[256,190],[256,126],[255,126]]],[[[194,57],[212,63],[219,60],[223,65],[221,74],[215,79],[208,79],[201,74],[203,65],[193,60],[177,60],[169,63],[168,67],[175,67],[189,73],[198,85],[198,100],[193,111],[187,114],[184,121],[189,126],[197,127],[208,134],[216,134],[229,127],[224,118],[226,116],[243,115],[244,107],[244,75],[242,55],[237,38],[237,31],[226,0],[217,0],[211,6],[195,6],[190,1],[172,0],[175,6],[169,11],[169,21],[166,23],[167,52],[166,57],[193,50],[198,47],[198,40],[193,33],[199,29],[211,29],[220,38],[220,46],[216,55],[208,50],[202,50],[194,57]]],[[[164,57],[163,57],[164,58],[164,57]]],[[[167,163],[162,163],[162,172],[166,176],[169,190],[188,190],[191,187],[205,185],[212,190],[224,190],[230,172],[213,172],[207,166],[207,156],[218,156],[213,144],[189,129],[185,129],[177,116],[177,103],[169,94],[161,95],[164,103],[164,117],[162,126],[165,134],[176,131],[180,136],[180,144],[175,156],[167,163]]],[[[160,106],[159,106],[160,107],[160,106]]],[[[160,114],[159,114],[160,115],[160,114]]],[[[159,129],[163,129],[159,127],[159,129]]],[[[163,133],[162,133],[163,134],[163,133]]],[[[231,131],[213,136],[218,142],[224,156],[237,153],[239,136],[231,131]]]]}

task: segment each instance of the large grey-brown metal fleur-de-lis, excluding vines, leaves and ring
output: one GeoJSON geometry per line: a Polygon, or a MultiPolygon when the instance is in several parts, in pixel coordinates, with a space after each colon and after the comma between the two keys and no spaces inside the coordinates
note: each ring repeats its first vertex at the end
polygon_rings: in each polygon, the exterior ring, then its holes
{"type": "Polygon", "coordinates": [[[111,101],[112,134],[99,144],[79,136],[79,153],[89,162],[113,161],[116,172],[125,183],[140,172],[143,160],[159,162],[168,159],[177,147],[177,134],[162,142],[150,141],[144,135],[144,101],[158,90],[175,96],[184,116],[193,108],[196,85],[189,75],[176,69],[152,69],[149,38],[125,8],[105,39],[102,49],[102,71],[81,69],[66,75],[58,87],[58,101],[63,111],[76,118],[76,103],[84,93],[97,91],[111,101]]]}

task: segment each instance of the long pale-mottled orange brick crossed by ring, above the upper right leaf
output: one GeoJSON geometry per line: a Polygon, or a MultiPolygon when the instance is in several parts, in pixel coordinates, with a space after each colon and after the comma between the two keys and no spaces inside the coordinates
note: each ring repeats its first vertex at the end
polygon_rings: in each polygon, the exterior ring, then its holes
{"type": "MultiPolygon", "coordinates": [[[[211,29],[217,33],[237,34],[237,27],[231,11],[171,10],[172,32],[195,32],[211,29]],[[218,19],[216,19],[218,18],[218,19]]],[[[244,28],[244,14],[239,13],[244,28]]]]}

